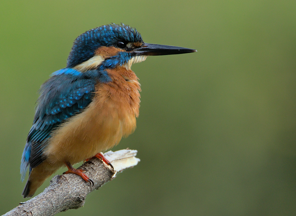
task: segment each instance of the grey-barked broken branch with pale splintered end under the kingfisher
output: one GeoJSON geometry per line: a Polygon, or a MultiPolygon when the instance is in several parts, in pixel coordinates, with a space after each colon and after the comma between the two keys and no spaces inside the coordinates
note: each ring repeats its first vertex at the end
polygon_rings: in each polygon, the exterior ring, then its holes
{"type": "Polygon", "coordinates": [[[85,170],[84,173],[93,180],[93,187],[75,174],[56,175],[42,193],[28,201],[21,202],[18,207],[4,215],[49,216],[68,209],[83,207],[87,194],[115,178],[117,172],[137,165],[140,159],[135,157],[136,154],[136,150],[129,149],[105,153],[104,156],[111,162],[114,171],[99,159],[90,159],[79,169],[85,170]]]}

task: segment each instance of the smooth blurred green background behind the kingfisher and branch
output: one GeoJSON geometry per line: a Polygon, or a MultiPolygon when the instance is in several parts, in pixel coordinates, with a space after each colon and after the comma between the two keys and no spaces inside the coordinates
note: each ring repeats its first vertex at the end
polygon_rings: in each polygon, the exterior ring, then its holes
{"type": "Polygon", "coordinates": [[[112,150],[141,162],[59,215],[296,214],[296,1],[0,4],[0,214],[24,201],[37,90],[78,35],[111,22],[198,52],[133,65],[137,129],[112,150]]]}

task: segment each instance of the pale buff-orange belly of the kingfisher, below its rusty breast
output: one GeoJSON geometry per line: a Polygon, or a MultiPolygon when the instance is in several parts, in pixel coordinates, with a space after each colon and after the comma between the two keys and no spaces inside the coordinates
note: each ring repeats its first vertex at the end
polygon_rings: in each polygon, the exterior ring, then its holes
{"type": "Polygon", "coordinates": [[[107,86],[106,90],[102,86],[82,113],[53,133],[45,150],[49,163],[57,166],[66,161],[78,163],[112,148],[135,130],[139,103],[130,103],[130,97],[122,97],[122,92],[112,92],[110,97],[110,88],[107,86]]]}

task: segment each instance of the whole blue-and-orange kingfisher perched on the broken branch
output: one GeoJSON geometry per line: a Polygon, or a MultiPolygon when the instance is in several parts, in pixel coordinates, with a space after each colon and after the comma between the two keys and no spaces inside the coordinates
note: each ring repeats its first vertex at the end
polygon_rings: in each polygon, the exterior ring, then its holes
{"type": "Polygon", "coordinates": [[[97,157],[112,167],[101,152],[117,145],[136,129],[139,79],[133,63],[149,55],[173,55],[195,49],[144,43],[128,25],[103,25],[78,36],[67,66],[52,73],[39,89],[33,120],[22,153],[20,173],[29,178],[22,191],[31,197],[60,167],[93,184],[73,164],[97,157]]]}

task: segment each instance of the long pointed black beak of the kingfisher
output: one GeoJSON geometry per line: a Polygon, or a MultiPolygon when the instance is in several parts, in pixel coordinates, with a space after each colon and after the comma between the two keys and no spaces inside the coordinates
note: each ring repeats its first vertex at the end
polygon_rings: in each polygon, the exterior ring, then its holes
{"type": "Polygon", "coordinates": [[[134,49],[133,52],[136,52],[136,55],[175,55],[196,52],[196,50],[184,47],[145,43],[144,46],[134,49]]]}

